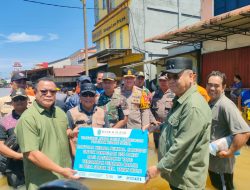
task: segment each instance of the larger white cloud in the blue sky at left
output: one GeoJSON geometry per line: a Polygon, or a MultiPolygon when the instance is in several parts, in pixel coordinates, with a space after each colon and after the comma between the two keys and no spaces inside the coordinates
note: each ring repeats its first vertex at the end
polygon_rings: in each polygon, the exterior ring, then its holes
{"type": "Polygon", "coordinates": [[[10,35],[6,36],[7,42],[38,42],[43,39],[43,36],[40,35],[32,35],[27,34],[25,32],[21,33],[11,33],[10,35]]]}

